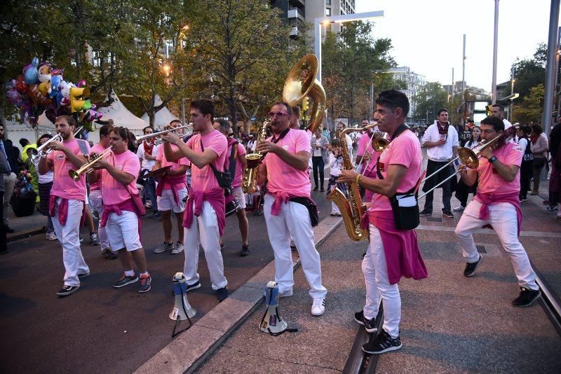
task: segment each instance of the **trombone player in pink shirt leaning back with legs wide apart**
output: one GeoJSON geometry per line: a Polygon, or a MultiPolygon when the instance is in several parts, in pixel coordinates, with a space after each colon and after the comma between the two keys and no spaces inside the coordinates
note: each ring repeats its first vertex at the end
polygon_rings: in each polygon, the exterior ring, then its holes
{"type": "MultiPolygon", "coordinates": [[[[481,121],[483,140],[489,141],[503,134],[501,118],[487,117],[481,121]]],[[[473,231],[490,224],[511,256],[514,272],[520,286],[520,295],[512,303],[515,307],[527,307],[539,298],[536,275],[530,265],[528,255],[518,235],[522,224],[520,210],[520,163],[524,149],[515,143],[501,141],[497,148],[484,148],[478,168],[465,169],[461,180],[467,186],[479,181],[477,194],[462,214],[455,233],[458,237],[462,256],[466,258],[465,277],[472,277],[483,258],[473,242],[473,231]]]]}

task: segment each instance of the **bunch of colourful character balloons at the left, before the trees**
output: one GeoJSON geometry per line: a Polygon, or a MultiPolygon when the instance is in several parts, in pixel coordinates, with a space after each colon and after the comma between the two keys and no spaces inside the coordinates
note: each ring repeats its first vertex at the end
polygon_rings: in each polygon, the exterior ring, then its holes
{"type": "Polygon", "coordinates": [[[78,106],[70,105],[71,89],[85,87],[86,81],[74,84],[65,81],[63,75],[64,69],[54,69],[48,62],[39,64],[34,57],[21,75],[6,83],[8,100],[20,108],[22,122],[32,127],[36,127],[43,112],[53,123],[57,116],[79,113],[80,125],[88,131],[95,130],[93,121],[102,118],[102,113],[95,111],[90,99],[82,97],[78,106]]]}

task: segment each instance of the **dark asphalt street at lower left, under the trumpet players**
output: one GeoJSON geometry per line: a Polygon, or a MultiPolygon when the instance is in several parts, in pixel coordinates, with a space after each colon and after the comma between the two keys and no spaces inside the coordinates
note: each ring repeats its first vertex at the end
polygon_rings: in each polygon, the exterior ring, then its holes
{"type": "MultiPolygon", "coordinates": [[[[312,197],[320,220],[324,219],[331,211],[325,193],[312,197]]],[[[239,256],[237,219],[227,219],[223,256],[230,292],[273,260],[263,216],[248,213],[248,219],[247,257],[239,256]]],[[[10,253],[0,257],[0,331],[5,337],[0,343],[0,372],[130,372],[168,345],[173,330],[168,317],[174,303],[171,278],[182,271],[184,254],[152,253],[162,241],[161,222],[144,219],[142,243],[153,282],[149,293],[140,294],[137,284],[111,286],[121,272],[119,261],[104,260],[99,248],[86,239],[82,250],[91,275],[83,279],[79,291],[62,299],[55,295],[64,274],[60,244],[46,241],[44,235],[9,243],[10,253]]],[[[189,293],[189,303],[197,311],[194,321],[218,304],[202,252],[203,286],[189,293]]]]}

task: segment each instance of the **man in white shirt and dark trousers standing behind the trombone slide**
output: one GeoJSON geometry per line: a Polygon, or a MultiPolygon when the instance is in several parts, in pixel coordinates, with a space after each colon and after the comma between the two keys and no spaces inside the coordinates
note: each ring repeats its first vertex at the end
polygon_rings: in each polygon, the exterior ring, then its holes
{"type": "MultiPolygon", "coordinates": [[[[428,126],[421,143],[426,148],[426,157],[428,158],[426,175],[432,175],[440,169],[438,173],[426,179],[423,186],[423,191],[426,192],[444,181],[454,172],[454,166],[446,164],[457,156],[459,141],[458,132],[448,122],[447,109],[440,109],[438,111],[438,120],[435,120],[435,123],[428,126]],[[444,167],[445,165],[446,167],[444,167]]],[[[449,218],[454,218],[452,206],[450,205],[450,200],[452,199],[452,180],[449,179],[442,183],[441,188],[442,205],[444,205],[442,207],[442,214],[449,218]]],[[[425,207],[419,216],[431,216],[433,214],[433,197],[433,191],[426,194],[425,207]]]]}

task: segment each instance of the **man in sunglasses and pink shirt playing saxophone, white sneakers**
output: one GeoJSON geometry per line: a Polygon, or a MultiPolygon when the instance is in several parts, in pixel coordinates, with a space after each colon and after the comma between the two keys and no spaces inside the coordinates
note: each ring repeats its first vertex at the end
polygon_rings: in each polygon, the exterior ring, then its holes
{"type": "Polygon", "coordinates": [[[321,282],[320,254],[313,242],[311,213],[315,204],[310,198],[308,174],[311,144],[306,132],[290,128],[291,114],[292,110],[285,102],[275,102],[271,107],[269,119],[273,136],[257,144],[257,151],[265,153],[257,183],[268,180],[263,212],[275,254],[279,296],[292,296],[292,235],[311,287],[311,314],[320,316],[325,312],[327,289],[321,282]]]}

